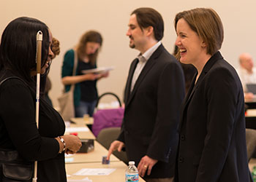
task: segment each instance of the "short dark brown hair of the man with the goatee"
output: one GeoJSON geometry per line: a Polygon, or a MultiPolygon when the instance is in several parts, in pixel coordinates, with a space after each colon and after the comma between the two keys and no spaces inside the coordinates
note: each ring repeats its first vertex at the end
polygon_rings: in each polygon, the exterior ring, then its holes
{"type": "Polygon", "coordinates": [[[150,7],[140,7],[135,9],[131,15],[137,17],[140,29],[152,26],[154,28],[154,38],[160,41],[164,36],[164,20],[157,10],[150,7]]]}

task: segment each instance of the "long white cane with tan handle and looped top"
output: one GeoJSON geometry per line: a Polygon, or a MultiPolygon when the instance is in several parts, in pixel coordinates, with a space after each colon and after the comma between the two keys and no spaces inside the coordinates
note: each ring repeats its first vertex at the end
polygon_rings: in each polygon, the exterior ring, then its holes
{"type": "MultiPolygon", "coordinates": [[[[39,93],[40,93],[40,73],[41,73],[41,57],[42,57],[42,31],[37,32],[37,93],[36,93],[36,122],[39,128],[39,93]]],[[[37,182],[37,161],[34,162],[34,178],[33,182],[37,182]]]]}

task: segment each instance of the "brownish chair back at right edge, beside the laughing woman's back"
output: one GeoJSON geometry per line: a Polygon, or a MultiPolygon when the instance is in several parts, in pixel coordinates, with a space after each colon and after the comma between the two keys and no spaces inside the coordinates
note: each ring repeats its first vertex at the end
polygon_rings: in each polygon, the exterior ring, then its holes
{"type": "Polygon", "coordinates": [[[255,157],[256,151],[256,130],[246,128],[246,147],[248,162],[252,157],[255,157]]]}

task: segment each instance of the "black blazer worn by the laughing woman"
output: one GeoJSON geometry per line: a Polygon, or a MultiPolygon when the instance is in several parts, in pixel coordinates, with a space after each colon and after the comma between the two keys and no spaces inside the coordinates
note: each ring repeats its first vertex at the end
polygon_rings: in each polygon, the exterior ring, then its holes
{"type": "MultiPolygon", "coordinates": [[[[195,76],[196,77],[196,76],[195,76]]],[[[182,106],[176,182],[247,182],[244,93],[217,52],[182,106]]]]}

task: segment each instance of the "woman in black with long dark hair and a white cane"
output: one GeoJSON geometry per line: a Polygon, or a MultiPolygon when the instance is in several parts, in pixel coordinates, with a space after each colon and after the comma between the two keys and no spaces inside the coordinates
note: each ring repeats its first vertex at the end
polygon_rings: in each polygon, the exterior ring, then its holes
{"type": "Polygon", "coordinates": [[[36,98],[39,83],[35,77],[49,69],[53,58],[51,41],[47,25],[30,17],[12,20],[2,33],[0,181],[32,181],[35,161],[34,181],[67,181],[64,151],[75,153],[80,149],[78,137],[64,135],[64,121],[59,113],[44,98],[39,100],[39,95],[36,98]],[[39,31],[42,32],[42,60],[37,58],[38,64],[41,60],[40,71],[35,62],[39,31]]]}

